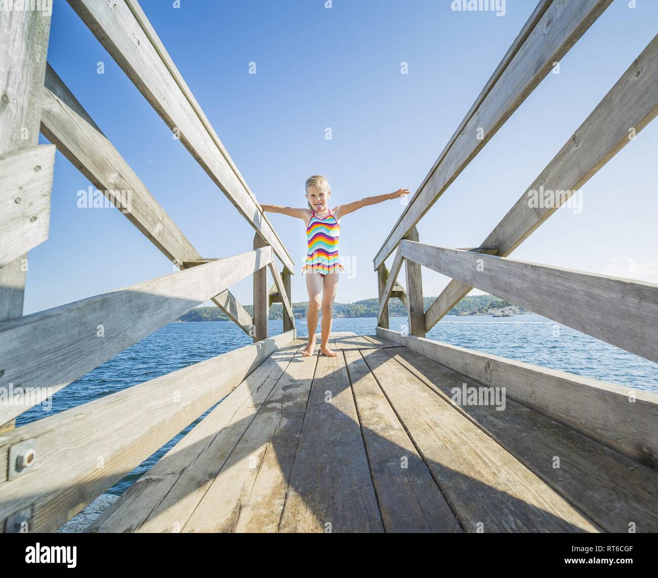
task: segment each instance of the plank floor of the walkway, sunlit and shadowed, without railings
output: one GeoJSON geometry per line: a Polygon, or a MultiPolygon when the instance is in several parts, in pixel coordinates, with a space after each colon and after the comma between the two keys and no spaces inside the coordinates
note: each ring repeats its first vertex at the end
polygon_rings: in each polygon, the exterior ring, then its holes
{"type": "Polygon", "coordinates": [[[658,529],[656,472],[380,337],[274,352],[92,532],[658,529]],[[559,467],[557,467],[559,465],[559,467]]]}

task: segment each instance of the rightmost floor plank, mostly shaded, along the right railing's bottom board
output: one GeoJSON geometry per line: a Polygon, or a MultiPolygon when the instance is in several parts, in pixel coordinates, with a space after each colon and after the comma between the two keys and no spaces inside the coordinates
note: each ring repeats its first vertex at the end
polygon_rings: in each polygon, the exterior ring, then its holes
{"type": "Polygon", "coordinates": [[[606,531],[627,533],[631,523],[638,532],[658,529],[656,471],[507,399],[505,390],[501,410],[467,404],[455,392],[479,383],[406,347],[386,351],[606,531]]]}

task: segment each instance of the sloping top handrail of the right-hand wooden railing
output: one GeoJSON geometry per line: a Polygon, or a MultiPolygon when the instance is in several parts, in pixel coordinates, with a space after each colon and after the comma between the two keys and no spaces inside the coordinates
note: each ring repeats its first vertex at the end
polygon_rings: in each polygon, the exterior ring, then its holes
{"type": "MultiPolygon", "coordinates": [[[[612,0],[554,1],[536,20],[374,258],[375,270],[612,0]]],[[[506,55],[507,57],[507,55],[506,55]]],[[[504,59],[503,59],[504,60],[504,59]]],[[[467,115],[468,116],[468,115],[467,115]]],[[[497,245],[493,245],[496,247],[497,245]]]]}

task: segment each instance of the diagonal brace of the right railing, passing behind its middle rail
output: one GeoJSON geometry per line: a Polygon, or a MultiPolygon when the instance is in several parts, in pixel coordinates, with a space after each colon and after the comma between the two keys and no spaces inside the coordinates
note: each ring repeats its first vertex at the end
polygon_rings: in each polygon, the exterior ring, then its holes
{"type": "MultiPolygon", "coordinates": [[[[482,247],[497,247],[498,256],[511,254],[569,199],[571,191],[578,191],[657,113],[658,38],[654,37],[503,220],[482,241],[482,247]],[[540,187],[553,193],[569,191],[569,195],[555,195],[555,201],[549,203],[550,206],[534,206],[536,203],[530,203],[530,195],[538,195],[542,190],[540,187]]],[[[461,281],[450,281],[425,312],[426,330],[429,331],[471,289],[461,281]]]]}

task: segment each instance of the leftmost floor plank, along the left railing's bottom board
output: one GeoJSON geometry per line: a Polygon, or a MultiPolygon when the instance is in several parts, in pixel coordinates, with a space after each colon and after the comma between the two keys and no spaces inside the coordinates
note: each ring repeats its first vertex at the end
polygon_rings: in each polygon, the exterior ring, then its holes
{"type": "Polygon", "coordinates": [[[87,531],[180,532],[301,347],[274,351],[87,531]]]}

